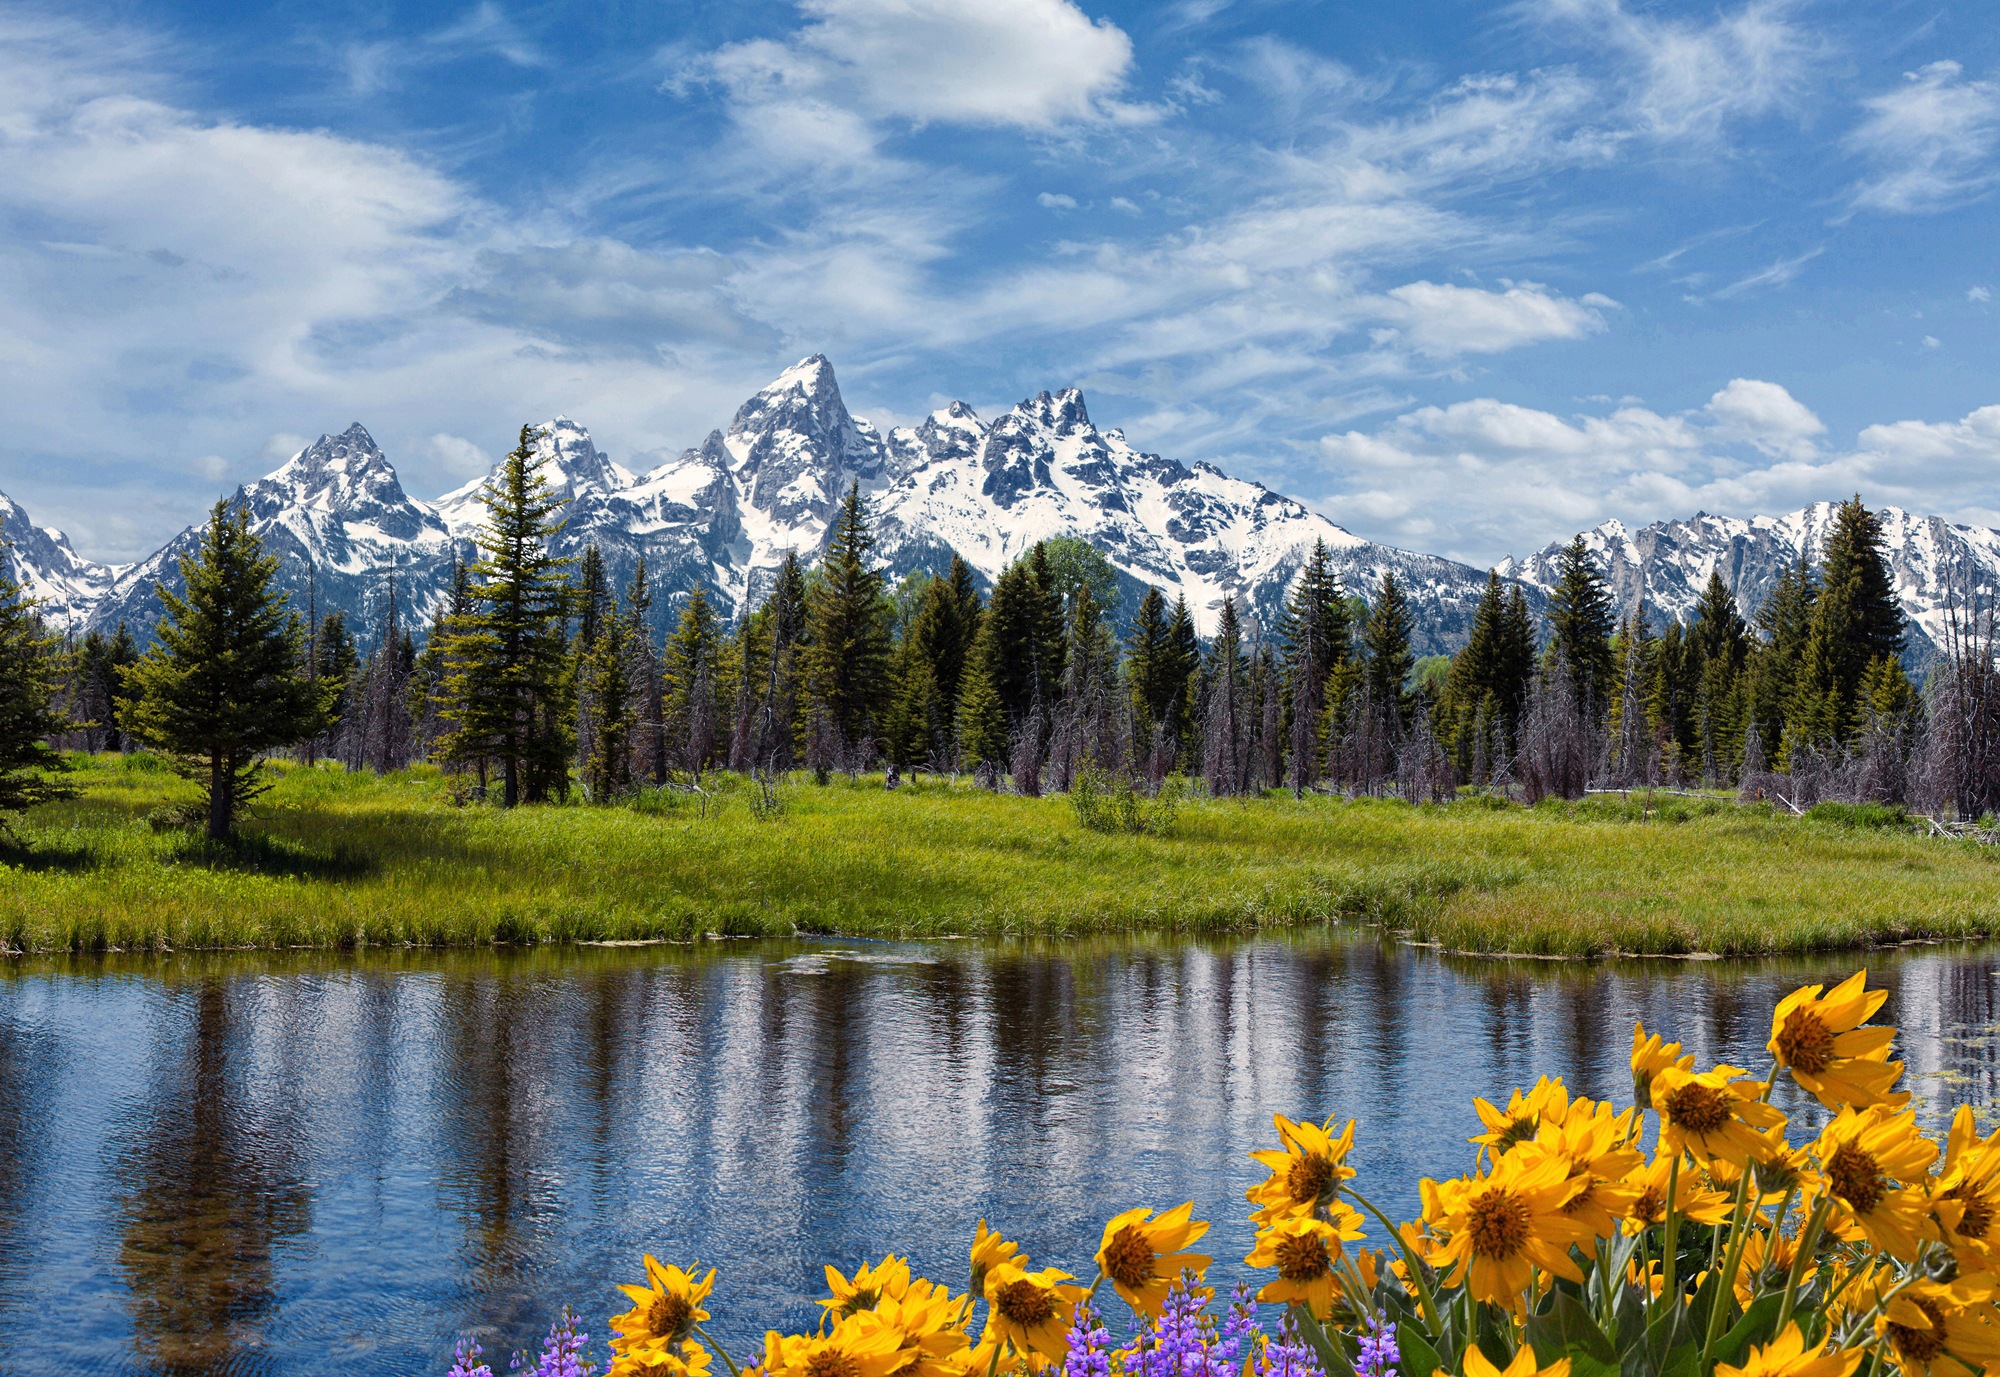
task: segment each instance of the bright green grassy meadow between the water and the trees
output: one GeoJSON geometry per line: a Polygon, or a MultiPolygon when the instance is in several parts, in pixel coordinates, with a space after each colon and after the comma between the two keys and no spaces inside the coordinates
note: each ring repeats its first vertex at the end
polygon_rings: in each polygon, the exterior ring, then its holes
{"type": "MultiPolygon", "coordinates": [[[[432,771],[284,769],[244,837],[160,825],[192,787],[80,759],[0,849],[14,951],[1246,931],[1372,923],[1450,951],[1784,953],[2000,933],[1994,849],[1726,801],[1188,801],[1164,837],[1066,799],[880,779],[630,807],[458,807],[432,771]]],[[[736,785],[736,787],[732,787],[736,785]]]]}

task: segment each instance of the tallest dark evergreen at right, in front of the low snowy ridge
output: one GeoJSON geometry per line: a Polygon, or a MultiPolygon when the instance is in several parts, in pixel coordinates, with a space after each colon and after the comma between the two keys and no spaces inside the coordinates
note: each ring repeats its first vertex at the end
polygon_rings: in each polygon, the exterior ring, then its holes
{"type": "Polygon", "coordinates": [[[1786,705],[1788,749],[1846,743],[1864,725],[1860,684],[1876,660],[1902,656],[1902,606],[1882,552],[1882,520],[1860,496],[1834,512],[1820,596],[1786,705]]]}

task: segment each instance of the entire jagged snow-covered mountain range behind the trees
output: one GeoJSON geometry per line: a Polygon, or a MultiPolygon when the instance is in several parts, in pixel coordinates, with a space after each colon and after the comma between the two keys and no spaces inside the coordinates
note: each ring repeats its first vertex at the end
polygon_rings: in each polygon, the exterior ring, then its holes
{"type": "MultiPolygon", "coordinates": [[[[1486,586],[1482,568],[1364,540],[1256,482],[1138,450],[1122,430],[1098,430],[1076,388],[1038,392],[992,422],[952,402],[916,426],[880,430],[848,412],[832,364],[814,354],[746,400],[726,428],[648,472],[612,462],[568,416],[540,426],[536,448],[564,498],[556,550],[578,554],[594,542],[616,586],[644,558],[656,630],[696,584],[732,616],[754,608],[786,550],[818,556],[848,484],[860,484],[868,500],[876,560],[892,578],[940,572],[956,552],[990,584],[1036,540],[1074,534],[1110,560],[1126,610],[1154,584],[1186,594],[1204,632],[1224,596],[1274,626],[1316,540],[1350,592],[1366,596],[1386,570],[1396,572],[1420,652],[1462,644],[1486,586]]],[[[428,622],[442,604],[454,558],[474,556],[484,482],[414,498],[356,422],[322,434],[234,500],[278,556],[278,582],[294,606],[338,608],[368,638],[392,586],[406,620],[428,622]]],[[[1898,508],[1882,516],[1896,588],[1914,622],[1912,658],[1922,660],[1944,634],[1948,594],[2000,580],[2000,532],[1898,508]]],[[[1712,568],[1754,612],[1786,562],[1824,544],[1830,520],[1832,504],[1820,502],[1786,516],[1696,514],[1642,530],[1610,520],[1584,540],[1606,568],[1620,614],[1642,606],[1664,624],[1692,610],[1712,568]]],[[[178,586],[180,556],[200,528],[144,560],[106,566],[0,496],[0,536],[12,574],[52,622],[144,628],[160,616],[158,584],[178,586]]],[[[1500,564],[1538,612],[1560,548],[1554,542],[1500,564]]]]}

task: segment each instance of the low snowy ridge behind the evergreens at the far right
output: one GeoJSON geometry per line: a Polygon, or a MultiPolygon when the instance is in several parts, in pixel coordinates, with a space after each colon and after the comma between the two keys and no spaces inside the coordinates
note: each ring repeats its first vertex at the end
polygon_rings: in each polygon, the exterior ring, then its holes
{"type": "MultiPolygon", "coordinates": [[[[1814,502],[1784,516],[1710,516],[1656,520],[1628,530],[1618,520],[1584,530],[1584,544],[1604,568],[1618,616],[1644,602],[1654,626],[1686,620],[1708,584],[1710,570],[1736,594],[1744,616],[1770,596],[1778,574],[1800,554],[1818,558],[1834,528],[1836,502],[1814,502]]],[[[1946,636],[1948,606],[1988,606],[2000,590],[2000,530],[1958,526],[1942,516],[1918,516],[1898,506],[1874,508],[1882,520],[1896,594],[1910,618],[1908,658],[1922,664],[1946,636]]],[[[1556,556],[1566,542],[1502,560],[1500,572],[1542,590],[1556,586],[1556,556]]]]}

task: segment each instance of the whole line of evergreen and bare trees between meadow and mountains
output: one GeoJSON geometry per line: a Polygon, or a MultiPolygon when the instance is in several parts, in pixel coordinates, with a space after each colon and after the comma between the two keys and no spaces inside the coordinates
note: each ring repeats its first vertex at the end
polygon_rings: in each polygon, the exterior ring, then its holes
{"type": "Polygon", "coordinates": [[[1578,536],[1544,624],[1488,578],[1468,644],[1412,654],[1392,572],[1342,588],[1318,544],[1270,626],[1224,600],[1196,634],[1148,588],[1114,626],[1110,564],[1076,538],[1036,544],[982,594],[958,558],[890,584],[850,488],[824,554],[788,554],[730,628],[700,586],[654,644],[644,564],[606,580],[596,548],[556,558],[560,502],[536,434],[488,482],[478,558],[414,626],[386,586],[376,626],[286,606],[274,560],[218,504],[184,592],[146,650],[128,628],[58,642],[0,588],[0,809],[58,797],[56,747],[164,753],[224,837],[274,751],[392,771],[432,761],[500,803],[700,787],[710,771],[962,773],[1028,795],[1146,795],[1196,781],[1444,801],[1464,787],[1578,797],[1592,787],[1740,789],[1794,807],[2000,805],[1992,618],[1954,616],[1914,684],[1882,526],[1856,496],[1816,560],[1746,618],[1720,574],[1664,634],[1618,622],[1578,536]],[[362,644],[366,642],[366,652],[362,644]]]}

